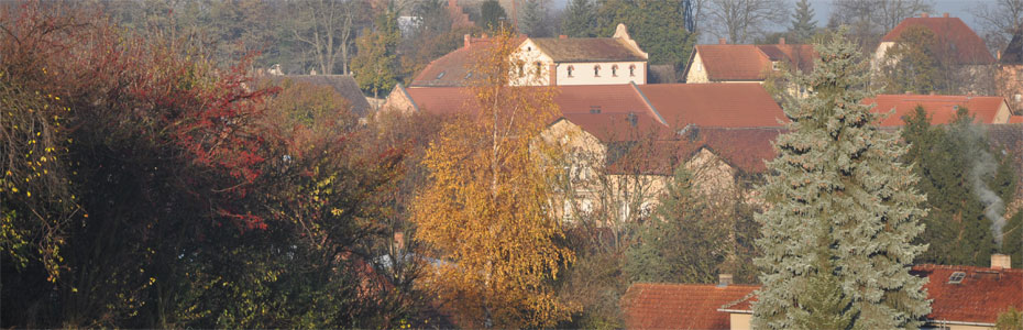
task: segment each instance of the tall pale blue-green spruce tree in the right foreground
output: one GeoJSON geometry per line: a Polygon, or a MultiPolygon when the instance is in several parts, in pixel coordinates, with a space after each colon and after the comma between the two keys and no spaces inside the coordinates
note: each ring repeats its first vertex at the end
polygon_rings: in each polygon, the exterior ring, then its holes
{"type": "Polygon", "coordinates": [[[931,311],[925,279],[909,272],[926,250],[912,243],[924,230],[924,197],[911,167],[897,163],[905,147],[860,102],[867,63],[844,32],[817,45],[812,74],[791,78],[812,94],[785,105],[790,133],[776,141],[761,187],[770,207],[757,217],[755,328],[917,328],[931,311]],[[820,297],[832,302],[818,308],[820,297]]]}

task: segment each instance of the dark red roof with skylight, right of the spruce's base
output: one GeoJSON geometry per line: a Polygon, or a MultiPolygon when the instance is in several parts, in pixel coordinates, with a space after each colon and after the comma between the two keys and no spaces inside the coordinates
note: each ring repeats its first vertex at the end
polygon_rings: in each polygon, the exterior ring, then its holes
{"type": "Polygon", "coordinates": [[[924,285],[931,302],[927,318],[937,321],[994,323],[1009,309],[1023,309],[1023,270],[974,266],[916,265],[913,274],[931,280],[924,285]],[[965,273],[959,284],[948,283],[955,272],[965,273]]]}

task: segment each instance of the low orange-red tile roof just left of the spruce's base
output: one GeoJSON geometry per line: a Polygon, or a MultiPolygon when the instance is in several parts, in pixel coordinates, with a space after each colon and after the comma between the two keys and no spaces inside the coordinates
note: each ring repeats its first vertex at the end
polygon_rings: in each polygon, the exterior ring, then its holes
{"type": "Polygon", "coordinates": [[[637,283],[622,297],[629,329],[729,329],[729,315],[717,311],[758,286],[637,283]]]}

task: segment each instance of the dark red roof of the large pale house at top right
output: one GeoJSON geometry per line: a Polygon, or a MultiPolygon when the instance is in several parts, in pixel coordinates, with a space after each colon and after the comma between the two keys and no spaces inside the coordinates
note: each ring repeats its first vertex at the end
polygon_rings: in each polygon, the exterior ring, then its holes
{"type": "Polygon", "coordinates": [[[910,26],[924,26],[937,37],[936,54],[944,54],[945,50],[955,56],[956,64],[993,64],[994,57],[983,40],[967,26],[959,18],[908,18],[902,20],[895,29],[884,35],[881,42],[897,42],[910,26]]]}

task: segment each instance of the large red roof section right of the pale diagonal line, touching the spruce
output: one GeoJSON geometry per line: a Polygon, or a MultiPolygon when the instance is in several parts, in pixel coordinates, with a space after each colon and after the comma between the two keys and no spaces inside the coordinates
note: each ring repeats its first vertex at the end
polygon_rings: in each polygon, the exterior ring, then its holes
{"type": "Polygon", "coordinates": [[[781,107],[760,84],[639,85],[669,125],[718,128],[781,127],[781,107]]]}

